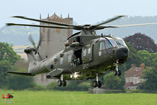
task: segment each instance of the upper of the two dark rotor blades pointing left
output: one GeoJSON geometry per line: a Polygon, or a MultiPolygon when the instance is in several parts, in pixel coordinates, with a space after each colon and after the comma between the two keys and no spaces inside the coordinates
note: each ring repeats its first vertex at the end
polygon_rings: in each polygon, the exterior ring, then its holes
{"type": "Polygon", "coordinates": [[[42,23],[48,23],[48,24],[54,24],[54,25],[61,25],[61,26],[70,26],[70,27],[74,26],[74,25],[65,24],[65,23],[59,23],[59,22],[53,22],[53,21],[47,21],[47,20],[39,20],[39,19],[27,18],[27,17],[24,17],[24,16],[13,16],[13,18],[20,18],[20,19],[25,19],[25,20],[32,20],[32,21],[36,21],[36,22],[42,22],[42,23]]]}

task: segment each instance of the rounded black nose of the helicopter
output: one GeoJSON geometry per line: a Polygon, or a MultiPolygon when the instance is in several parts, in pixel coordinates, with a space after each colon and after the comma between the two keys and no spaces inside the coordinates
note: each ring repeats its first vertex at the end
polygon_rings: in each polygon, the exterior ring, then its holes
{"type": "Polygon", "coordinates": [[[116,54],[117,54],[117,58],[119,60],[126,60],[128,57],[128,49],[127,48],[119,48],[116,51],[116,54]]]}

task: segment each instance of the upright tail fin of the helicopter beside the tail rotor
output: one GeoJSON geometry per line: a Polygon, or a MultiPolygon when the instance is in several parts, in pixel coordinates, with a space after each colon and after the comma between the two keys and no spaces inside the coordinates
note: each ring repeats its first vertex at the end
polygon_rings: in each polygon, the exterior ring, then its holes
{"type": "Polygon", "coordinates": [[[37,57],[35,56],[35,51],[36,50],[32,47],[28,47],[24,50],[24,52],[27,54],[29,62],[37,61],[37,57]]]}

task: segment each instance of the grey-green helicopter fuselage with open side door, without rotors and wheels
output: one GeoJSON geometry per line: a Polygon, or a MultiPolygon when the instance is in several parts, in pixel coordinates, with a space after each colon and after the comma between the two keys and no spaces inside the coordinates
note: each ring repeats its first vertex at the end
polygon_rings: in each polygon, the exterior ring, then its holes
{"type": "MultiPolygon", "coordinates": [[[[25,50],[26,53],[27,50],[30,48],[25,50]]],[[[33,49],[31,50],[33,54],[33,49]]],[[[120,38],[76,35],[69,38],[65,43],[65,49],[56,55],[42,61],[30,61],[32,63],[29,65],[28,72],[33,75],[47,73],[47,78],[59,78],[61,74],[65,74],[68,75],[67,79],[70,79],[70,75],[75,72],[89,75],[91,72],[102,73],[107,69],[114,70],[115,63],[118,61],[118,65],[123,64],[127,57],[128,47],[120,38]],[[105,69],[99,71],[100,67],[105,69]]]]}

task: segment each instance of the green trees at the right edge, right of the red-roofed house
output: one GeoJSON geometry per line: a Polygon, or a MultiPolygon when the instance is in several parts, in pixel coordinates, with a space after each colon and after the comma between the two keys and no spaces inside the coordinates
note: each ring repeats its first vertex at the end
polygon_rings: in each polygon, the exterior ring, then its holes
{"type": "Polygon", "coordinates": [[[142,90],[157,91],[157,53],[149,53],[146,50],[138,51],[138,55],[147,67],[142,78],[145,79],[140,86],[142,90]]]}

